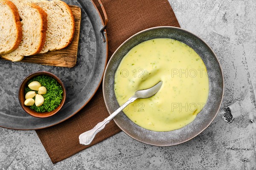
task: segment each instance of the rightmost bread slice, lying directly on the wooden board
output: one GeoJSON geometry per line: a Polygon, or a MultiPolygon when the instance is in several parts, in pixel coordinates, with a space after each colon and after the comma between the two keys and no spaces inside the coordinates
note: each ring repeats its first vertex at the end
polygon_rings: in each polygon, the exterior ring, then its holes
{"type": "Polygon", "coordinates": [[[61,0],[34,0],[33,3],[44,9],[48,20],[46,42],[40,53],[70,45],[75,32],[75,20],[70,7],[61,0]]]}

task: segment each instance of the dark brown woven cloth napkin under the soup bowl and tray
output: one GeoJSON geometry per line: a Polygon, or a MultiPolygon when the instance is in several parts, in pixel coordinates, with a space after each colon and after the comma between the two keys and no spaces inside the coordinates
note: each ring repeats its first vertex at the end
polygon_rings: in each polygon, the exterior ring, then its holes
{"type": "MultiPolygon", "coordinates": [[[[101,11],[97,0],[93,2],[101,11]]],[[[102,0],[102,3],[108,16],[108,59],[122,42],[139,31],[155,26],[180,27],[167,0],[102,0]]],[[[75,116],[53,127],[36,130],[36,133],[52,163],[56,163],[118,133],[120,129],[112,120],[90,145],[79,144],[79,135],[107,116],[101,85],[91,101],[75,116]]]]}

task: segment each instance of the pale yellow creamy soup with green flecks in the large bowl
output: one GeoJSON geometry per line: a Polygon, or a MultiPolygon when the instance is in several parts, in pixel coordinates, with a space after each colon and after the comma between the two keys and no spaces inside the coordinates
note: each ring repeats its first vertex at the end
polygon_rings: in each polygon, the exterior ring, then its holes
{"type": "Polygon", "coordinates": [[[191,123],[207,102],[209,79],[201,57],[172,39],[153,39],[132,48],[115,75],[119,105],[137,90],[163,81],[147,99],[137,99],[123,111],[135,124],[153,131],[170,131],[191,123]]]}

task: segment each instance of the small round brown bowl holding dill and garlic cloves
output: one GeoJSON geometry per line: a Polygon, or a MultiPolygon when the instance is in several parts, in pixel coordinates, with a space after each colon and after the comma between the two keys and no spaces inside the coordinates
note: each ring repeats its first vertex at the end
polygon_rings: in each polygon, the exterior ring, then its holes
{"type": "Polygon", "coordinates": [[[18,93],[18,98],[19,98],[21,107],[24,109],[24,111],[26,111],[26,113],[29,113],[31,116],[34,116],[34,117],[46,118],[46,117],[56,114],[59,110],[61,110],[61,108],[64,105],[64,102],[66,100],[66,89],[64,87],[63,82],[61,82],[61,79],[59,79],[54,74],[49,73],[47,71],[38,71],[38,72],[30,74],[21,82],[20,88],[19,88],[19,93],[18,93]],[[47,76],[50,76],[50,77],[54,78],[55,80],[57,80],[57,82],[61,85],[61,88],[63,91],[61,104],[58,106],[58,108],[56,108],[55,110],[50,111],[50,112],[41,112],[40,113],[40,112],[32,110],[29,106],[24,105],[24,102],[26,100],[25,99],[25,87],[26,87],[28,81],[30,79],[32,79],[33,77],[37,77],[37,76],[41,76],[41,75],[47,75],[47,76]]]}

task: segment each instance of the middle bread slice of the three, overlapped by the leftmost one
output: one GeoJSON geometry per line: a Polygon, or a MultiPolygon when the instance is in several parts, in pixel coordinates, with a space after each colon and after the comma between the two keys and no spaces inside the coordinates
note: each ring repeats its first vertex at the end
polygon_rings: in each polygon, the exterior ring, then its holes
{"type": "Polygon", "coordinates": [[[19,11],[23,37],[16,50],[1,57],[12,61],[20,61],[24,56],[38,54],[42,50],[46,40],[47,13],[29,1],[11,1],[19,11]]]}

